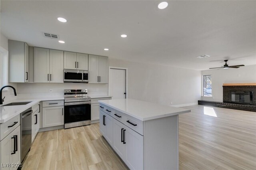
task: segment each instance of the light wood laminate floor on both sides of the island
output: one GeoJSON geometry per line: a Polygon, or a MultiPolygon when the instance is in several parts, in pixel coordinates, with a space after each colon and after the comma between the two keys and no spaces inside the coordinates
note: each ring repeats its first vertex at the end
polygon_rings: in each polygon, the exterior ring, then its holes
{"type": "MultiPolygon", "coordinates": [[[[256,170],[256,113],[202,105],[179,116],[180,170],[256,170]]],[[[125,170],[99,124],[39,132],[23,170],[125,170]]]]}

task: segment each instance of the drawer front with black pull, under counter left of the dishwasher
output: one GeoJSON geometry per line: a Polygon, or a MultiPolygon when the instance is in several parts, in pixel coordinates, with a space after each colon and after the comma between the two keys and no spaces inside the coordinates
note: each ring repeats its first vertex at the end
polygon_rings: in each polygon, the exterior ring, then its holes
{"type": "Polygon", "coordinates": [[[0,124],[0,140],[3,140],[8,134],[10,134],[16,127],[20,125],[20,114],[10,119],[9,121],[0,124]]]}

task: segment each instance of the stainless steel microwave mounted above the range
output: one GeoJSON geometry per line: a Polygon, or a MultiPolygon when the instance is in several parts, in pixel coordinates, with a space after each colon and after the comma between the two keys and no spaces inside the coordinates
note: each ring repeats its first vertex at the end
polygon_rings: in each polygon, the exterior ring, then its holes
{"type": "Polygon", "coordinates": [[[88,71],[64,69],[64,82],[72,83],[88,83],[88,71]]]}

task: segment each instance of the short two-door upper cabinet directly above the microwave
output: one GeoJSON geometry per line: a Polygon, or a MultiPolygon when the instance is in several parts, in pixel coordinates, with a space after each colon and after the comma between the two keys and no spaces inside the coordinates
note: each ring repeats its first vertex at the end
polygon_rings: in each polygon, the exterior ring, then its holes
{"type": "Polygon", "coordinates": [[[64,51],[64,69],[88,70],[88,54],[64,51]]]}

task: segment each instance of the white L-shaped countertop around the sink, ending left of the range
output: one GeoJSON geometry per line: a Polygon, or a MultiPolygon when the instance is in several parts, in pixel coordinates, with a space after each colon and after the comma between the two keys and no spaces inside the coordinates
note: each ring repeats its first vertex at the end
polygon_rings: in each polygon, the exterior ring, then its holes
{"type": "Polygon", "coordinates": [[[25,102],[25,101],[31,101],[30,103],[26,105],[17,105],[17,106],[2,106],[0,105],[0,123],[5,123],[12,119],[13,117],[16,117],[23,111],[26,111],[26,109],[32,107],[36,103],[40,101],[51,101],[51,100],[64,100],[64,97],[52,97],[52,98],[36,98],[36,99],[16,99],[13,101],[9,101],[4,103],[3,105],[6,105],[8,103],[12,102],[25,102]]]}

